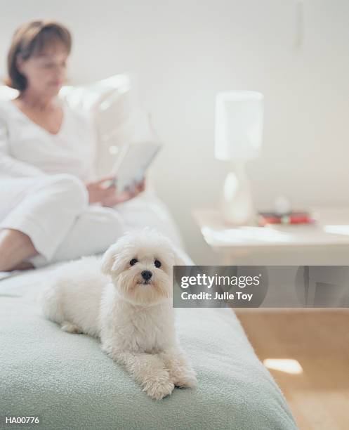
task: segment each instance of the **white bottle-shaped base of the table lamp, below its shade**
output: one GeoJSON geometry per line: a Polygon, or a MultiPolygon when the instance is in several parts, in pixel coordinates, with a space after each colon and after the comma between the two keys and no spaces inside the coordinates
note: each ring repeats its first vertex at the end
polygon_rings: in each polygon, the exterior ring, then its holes
{"type": "Polygon", "coordinates": [[[225,178],[221,204],[223,220],[234,226],[253,221],[253,203],[244,164],[237,164],[225,178]]]}

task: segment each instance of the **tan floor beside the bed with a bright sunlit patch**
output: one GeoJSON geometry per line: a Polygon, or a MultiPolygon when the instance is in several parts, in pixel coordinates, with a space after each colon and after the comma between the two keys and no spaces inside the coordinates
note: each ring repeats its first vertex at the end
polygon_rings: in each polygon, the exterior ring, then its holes
{"type": "Polygon", "coordinates": [[[349,429],[349,310],[235,309],[257,356],[298,360],[270,370],[299,429],[349,429]]]}

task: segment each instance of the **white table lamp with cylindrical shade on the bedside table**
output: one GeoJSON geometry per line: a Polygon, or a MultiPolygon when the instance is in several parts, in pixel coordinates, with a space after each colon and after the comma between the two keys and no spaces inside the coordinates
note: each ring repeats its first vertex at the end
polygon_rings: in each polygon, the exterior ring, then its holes
{"type": "Polygon", "coordinates": [[[227,91],[216,96],[215,156],[230,161],[225,179],[223,219],[242,225],[253,219],[251,189],[244,165],[258,157],[263,138],[263,94],[256,91],[227,91]]]}

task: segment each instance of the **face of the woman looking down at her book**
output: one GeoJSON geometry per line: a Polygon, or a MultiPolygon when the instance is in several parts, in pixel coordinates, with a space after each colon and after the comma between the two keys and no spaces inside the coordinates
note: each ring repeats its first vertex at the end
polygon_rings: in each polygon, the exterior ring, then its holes
{"type": "Polygon", "coordinates": [[[18,70],[27,79],[25,91],[38,96],[57,96],[66,77],[67,49],[60,43],[44,48],[27,60],[18,58],[18,70]]]}

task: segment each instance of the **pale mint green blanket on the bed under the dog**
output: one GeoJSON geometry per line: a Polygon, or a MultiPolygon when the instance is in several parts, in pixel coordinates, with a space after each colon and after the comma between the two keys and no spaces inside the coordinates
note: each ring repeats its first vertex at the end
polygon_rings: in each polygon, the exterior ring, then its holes
{"type": "Polygon", "coordinates": [[[46,268],[0,282],[1,429],[296,429],[230,309],[176,310],[199,385],[156,402],[96,339],[43,318],[36,296],[49,275],[46,268]],[[40,424],[5,426],[6,416],[40,424]]]}

